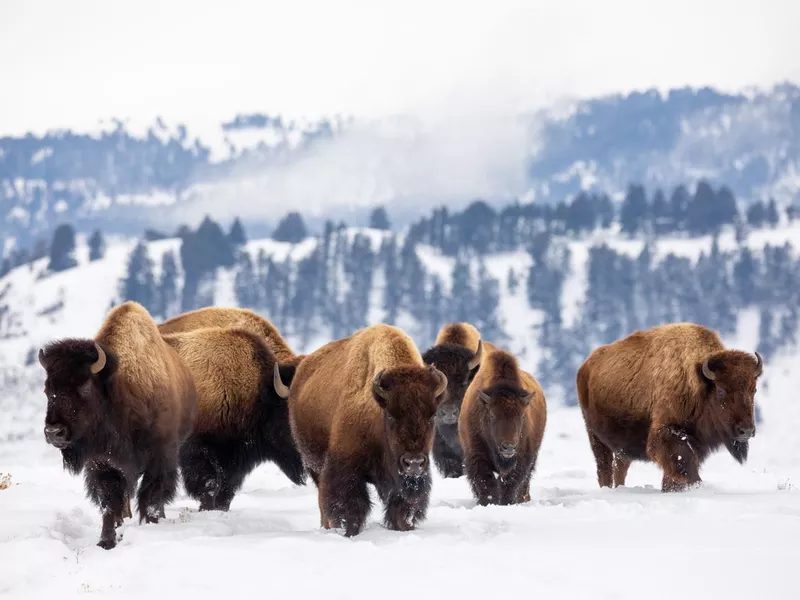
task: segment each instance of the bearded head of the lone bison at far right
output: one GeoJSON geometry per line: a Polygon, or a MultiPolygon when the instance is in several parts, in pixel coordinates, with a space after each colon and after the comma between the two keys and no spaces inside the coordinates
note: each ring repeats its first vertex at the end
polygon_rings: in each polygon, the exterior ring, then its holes
{"type": "MultiPolygon", "coordinates": [[[[725,350],[706,358],[700,371],[709,385],[709,407],[723,438],[734,447],[747,444],[756,433],[755,393],[763,371],[761,356],[725,350]]],[[[743,450],[742,458],[746,458],[746,446],[743,450]]],[[[737,456],[740,462],[742,458],[737,456]]]]}

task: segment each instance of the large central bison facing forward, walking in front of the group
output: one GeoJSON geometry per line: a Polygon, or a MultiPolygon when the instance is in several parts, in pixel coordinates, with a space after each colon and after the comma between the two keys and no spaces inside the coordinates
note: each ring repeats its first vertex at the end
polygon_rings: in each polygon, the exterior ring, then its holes
{"type": "Polygon", "coordinates": [[[330,342],[300,363],[289,419],[319,488],[322,527],[358,534],[372,506],[368,483],[389,529],[407,531],[425,518],[434,417],[446,387],[411,338],[389,325],[330,342]]]}

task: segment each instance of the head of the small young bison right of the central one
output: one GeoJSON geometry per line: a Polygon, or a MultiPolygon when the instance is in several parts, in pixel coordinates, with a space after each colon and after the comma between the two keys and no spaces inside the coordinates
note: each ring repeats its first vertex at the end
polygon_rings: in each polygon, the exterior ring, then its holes
{"type": "Polygon", "coordinates": [[[501,473],[510,471],[517,462],[525,409],[533,394],[511,382],[501,382],[478,392],[484,407],[486,438],[494,446],[501,473]]]}

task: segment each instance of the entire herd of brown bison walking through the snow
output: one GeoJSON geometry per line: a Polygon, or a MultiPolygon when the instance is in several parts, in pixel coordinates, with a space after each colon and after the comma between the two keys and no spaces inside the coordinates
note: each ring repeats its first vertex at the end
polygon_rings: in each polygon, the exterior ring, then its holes
{"type": "MultiPolygon", "coordinates": [[[[102,514],[98,545],[131,517],[156,523],[178,477],[200,510],[228,510],[247,475],[274,463],[318,490],[320,526],[357,535],[383,504],[387,528],[425,519],[433,460],[466,476],[481,505],[530,500],[547,422],[544,392],[517,359],[470,324],[442,328],[420,353],[380,324],[307,355],[238,308],[203,308],[157,324],[135,302],[114,307],[91,339],[39,351],[44,434],[64,468],[84,474],[102,514]]],[[[595,349],[577,391],[601,487],[632,461],[663,471],[662,490],[699,483],[725,446],[743,463],[755,434],[762,360],[676,323],[595,349]]]]}

